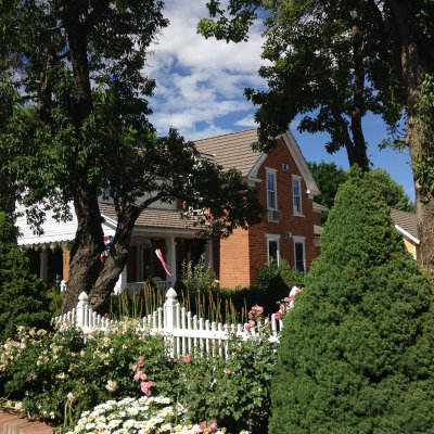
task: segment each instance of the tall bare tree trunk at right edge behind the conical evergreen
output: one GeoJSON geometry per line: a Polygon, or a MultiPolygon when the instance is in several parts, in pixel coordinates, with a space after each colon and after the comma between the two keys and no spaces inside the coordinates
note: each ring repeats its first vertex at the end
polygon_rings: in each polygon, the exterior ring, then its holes
{"type": "Polygon", "coordinates": [[[399,0],[387,1],[395,24],[395,29],[401,44],[403,76],[407,88],[407,135],[406,142],[410,150],[413,167],[416,190],[416,208],[418,213],[418,230],[420,239],[419,263],[430,277],[434,278],[434,197],[433,192],[421,186],[418,177],[418,164],[425,153],[431,157],[431,143],[426,140],[426,130],[432,126],[418,122],[417,105],[420,101],[420,85],[422,81],[422,62],[418,47],[412,40],[409,28],[408,2],[399,0]]]}

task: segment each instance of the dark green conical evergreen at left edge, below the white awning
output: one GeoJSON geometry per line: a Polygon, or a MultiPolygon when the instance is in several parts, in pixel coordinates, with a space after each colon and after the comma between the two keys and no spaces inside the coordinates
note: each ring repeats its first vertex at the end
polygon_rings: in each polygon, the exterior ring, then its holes
{"type": "Polygon", "coordinates": [[[47,327],[46,285],[29,270],[28,259],[16,244],[16,230],[0,213],[0,342],[18,326],[47,327]]]}

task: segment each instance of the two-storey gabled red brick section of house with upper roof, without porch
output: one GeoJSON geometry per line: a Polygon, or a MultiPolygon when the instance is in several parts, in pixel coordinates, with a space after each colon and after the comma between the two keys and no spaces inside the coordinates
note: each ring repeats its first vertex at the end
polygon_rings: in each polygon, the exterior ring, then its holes
{"type": "Polygon", "coordinates": [[[195,142],[225,169],[237,168],[259,189],[267,209],[263,221],[237,229],[227,239],[214,241],[214,267],[226,288],[256,283],[257,269],[281,257],[307,271],[319,254],[321,205],[314,203],[319,189],[291,131],[283,133],[270,154],[252,150],[256,129],[247,129],[195,142]]]}

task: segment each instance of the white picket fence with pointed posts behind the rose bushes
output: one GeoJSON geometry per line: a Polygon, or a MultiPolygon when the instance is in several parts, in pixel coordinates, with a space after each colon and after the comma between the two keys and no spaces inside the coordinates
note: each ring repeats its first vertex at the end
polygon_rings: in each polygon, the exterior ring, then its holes
{"type": "MultiPolygon", "coordinates": [[[[118,324],[118,322],[92,311],[85,292],[79,295],[76,308],[68,314],[53,318],[52,322],[75,324],[85,333],[94,329],[108,330],[118,324]]],[[[228,341],[231,335],[237,335],[243,341],[258,335],[260,326],[248,328],[245,326],[241,323],[222,324],[197,318],[196,315],[180,307],[177,293],[170,288],[166,293],[164,306],[144,317],[138,327],[138,332],[162,334],[165,340],[170,342],[170,357],[173,358],[186,356],[196,349],[201,349],[207,355],[227,358],[230,353],[228,341]]],[[[283,326],[282,320],[276,319],[272,314],[271,320],[265,320],[265,326],[271,329],[269,340],[278,342],[283,326]]]]}

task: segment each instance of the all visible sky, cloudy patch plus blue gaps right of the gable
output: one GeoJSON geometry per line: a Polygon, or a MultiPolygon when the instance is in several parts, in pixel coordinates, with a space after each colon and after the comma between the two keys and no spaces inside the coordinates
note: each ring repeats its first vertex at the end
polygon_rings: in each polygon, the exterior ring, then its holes
{"type": "MultiPolygon", "coordinates": [[[[265,82],[257,75],[264,62],[261,28],[252,28],[250,40],[226,43],[204,39],[195,31],[200,18],[207,16],[206,1],[168,0],[165,15],[170,25],[153,47],[145,74],[156,79],[157,88],[150,103],[152,122],[159,133],[177,128],[189,140],[255,127],[255,108],[243,95],[244,88],[260,88],[265,82]]],[[[346,152],[330,155],[326,152],[324,133],[299,133],[297,118],[291,130],[307,161],[321,159],[348,167],[346,152]]],[[[380,150],[376,144],[387,135],[382,120],[367,116],[363,122],[369,143],[369,158],[374,167],[386,169],[414,199],[411,166],[406,153],[392,149],[380,150]]]]}

